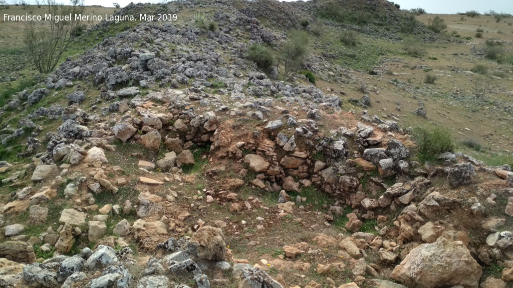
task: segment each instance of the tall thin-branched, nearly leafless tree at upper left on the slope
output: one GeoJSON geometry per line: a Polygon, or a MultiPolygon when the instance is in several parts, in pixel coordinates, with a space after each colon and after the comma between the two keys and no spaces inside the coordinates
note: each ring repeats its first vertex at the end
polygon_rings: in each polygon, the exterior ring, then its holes
{"type": "Polygon", "coordinates": [[[84,2],[71,0],[69,6],[59,5],[55,0],[44,0],[43,3],[48,8],[48,13],[54,16],[72,16],[68,20],[49,21],[48,28],[34,21],[30,21],[25,28],[25,56],[28,62],[40,73],[48,73],[57,66],[63,52],[71,43],[73,32],[80,25],[80,21],[75,20],[74,15],[83,13],[84,2]]]}

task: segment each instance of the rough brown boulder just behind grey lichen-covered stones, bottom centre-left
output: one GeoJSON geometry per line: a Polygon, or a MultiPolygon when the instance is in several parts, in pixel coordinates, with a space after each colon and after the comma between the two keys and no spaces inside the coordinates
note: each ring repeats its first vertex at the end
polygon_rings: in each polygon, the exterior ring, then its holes
{"type": "Polygon", "coordinates": [[[187,250],[200,259],[223,261],[226,258],[226,243],[221,228],[204,226],[187,243],[187,250]]]}

